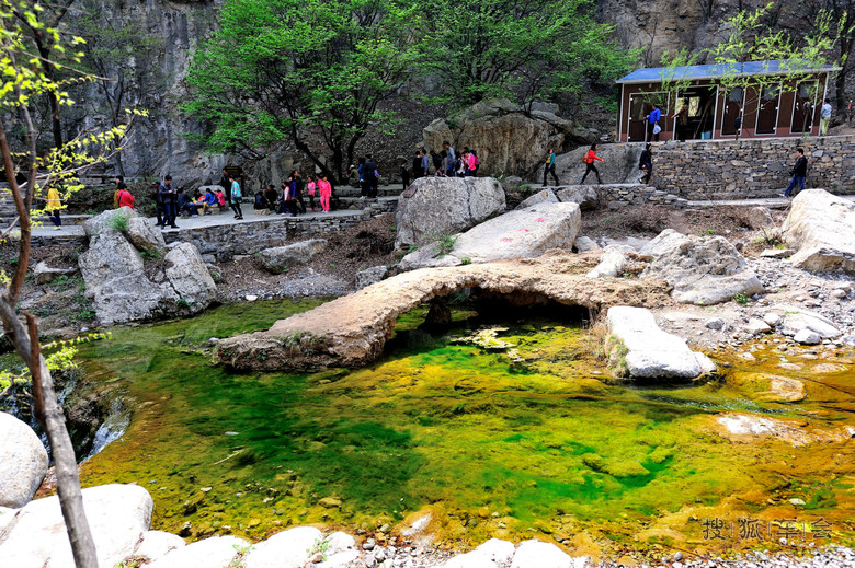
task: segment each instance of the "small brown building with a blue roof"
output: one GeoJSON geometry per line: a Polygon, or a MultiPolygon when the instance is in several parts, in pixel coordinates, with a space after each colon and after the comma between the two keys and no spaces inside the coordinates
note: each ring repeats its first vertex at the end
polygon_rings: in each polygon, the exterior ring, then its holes
{"type": "Polygon", "coordinates": [[[797,60],[636,69],[617,80],[618,140],[818,135],[820,107],[836,71],[797,60]]]}

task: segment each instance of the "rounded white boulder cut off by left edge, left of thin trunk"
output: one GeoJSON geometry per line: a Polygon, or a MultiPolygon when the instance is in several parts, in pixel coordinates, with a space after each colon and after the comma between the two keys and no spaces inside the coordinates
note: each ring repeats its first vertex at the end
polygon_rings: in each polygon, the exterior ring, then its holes
{"type": "Polygon", "coordinates": [[[46,473],[47,451],[33,429],[0,413],[0,507],[29,503],[46,473]]]}

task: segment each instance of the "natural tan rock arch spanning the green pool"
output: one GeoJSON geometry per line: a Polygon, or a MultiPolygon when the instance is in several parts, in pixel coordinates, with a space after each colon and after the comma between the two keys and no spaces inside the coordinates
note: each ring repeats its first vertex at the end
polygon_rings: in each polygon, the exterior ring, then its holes
{"type": "Polygon", "coordinates": [[[413,270],[280,320],[266,332],[224,339],[217,356],[228,367],[255,371],[366,364],[383,353],[400,314],[464,288],[527,293],[594,311],[670,302],[664,281],[591,280],[585,268],[578,256],[551,251],[540,258],[413,270]]]}

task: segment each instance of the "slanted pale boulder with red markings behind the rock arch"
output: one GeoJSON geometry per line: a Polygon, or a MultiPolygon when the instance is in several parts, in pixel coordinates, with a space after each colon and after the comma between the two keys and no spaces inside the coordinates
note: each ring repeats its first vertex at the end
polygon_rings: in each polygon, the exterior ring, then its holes
{"type": "Polygon", "coordinates": [[[549,248],[570,251],[582,215],[577,204],[543,202],[516,209],[463,233],[451,254],[472,263],[540,256],[549,248]]]}

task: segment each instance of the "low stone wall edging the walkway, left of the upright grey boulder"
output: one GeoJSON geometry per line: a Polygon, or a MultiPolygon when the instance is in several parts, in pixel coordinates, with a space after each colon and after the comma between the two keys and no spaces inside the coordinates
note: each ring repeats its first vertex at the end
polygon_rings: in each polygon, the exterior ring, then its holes
{"type": "MultiPolygon", "coordinates": [[[[167,244],[176,241],[193,243],[205,262],[230,260],[236,255],[255,254],[264,248],[282,246],[288,236],[295,234],[314,236],[342,231],[374,217],[395,211],[396,199],[380,200],[366,205],[353,215],[330,217],[284,217],[270,216],[252,223],[220,224],[168,231],[163,233],[167,244]]],[[[251,215],[251,213],[250,213],[251,215]]]]}

